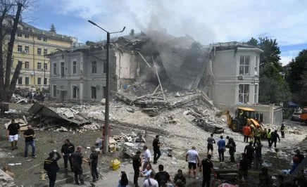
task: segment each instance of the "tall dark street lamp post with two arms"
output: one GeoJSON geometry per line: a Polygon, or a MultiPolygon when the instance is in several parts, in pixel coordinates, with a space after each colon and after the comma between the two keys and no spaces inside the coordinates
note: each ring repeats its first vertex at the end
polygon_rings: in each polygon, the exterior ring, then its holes
{"type": "MultiPolygon", "coordinates": [[[[95,22],[88,20],[92,25],[99,27],[99,29],[104,30],[102,27],[97,25],[95,22]]],[[[123,30],[118,32],[124,32],[123,30]]],[[[108,136],[109,136],[109,94],[110,94],[110,34],[118,33],[118,32],[106,32],[106,111],[104,112],[104,153],[108,153],[108,136]]]]}

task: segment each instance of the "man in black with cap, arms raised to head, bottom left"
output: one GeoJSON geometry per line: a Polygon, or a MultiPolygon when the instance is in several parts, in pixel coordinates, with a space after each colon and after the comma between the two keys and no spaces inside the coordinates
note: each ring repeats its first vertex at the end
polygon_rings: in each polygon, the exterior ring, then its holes
{"type": "Polygon", "coordinates": [[[49,153],[49,157],[44,161],[44,169],[49,178],[49,187],[54,187],[56,183],[56,173],[60,171],[58,168],[58,160],[60,159],[61,155],[56,150],[52,150],[51,153],[49,153]],[[56,158],[54,155],[56,155],[56,158]]]}

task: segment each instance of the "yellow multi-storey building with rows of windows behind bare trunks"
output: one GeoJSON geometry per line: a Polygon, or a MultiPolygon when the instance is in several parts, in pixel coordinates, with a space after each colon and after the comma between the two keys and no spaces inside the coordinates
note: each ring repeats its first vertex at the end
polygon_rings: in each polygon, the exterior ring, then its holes
{"type": "Polygon", "coordinates": [[[39,30],[27,23],[20,23],[15,36],[11,67],[12,78],[18,62],[23,63],[16,88],[47,89],[51,66],[46,55],[56,50],[70,48],[75,42],[74,37],[39,30]]]}

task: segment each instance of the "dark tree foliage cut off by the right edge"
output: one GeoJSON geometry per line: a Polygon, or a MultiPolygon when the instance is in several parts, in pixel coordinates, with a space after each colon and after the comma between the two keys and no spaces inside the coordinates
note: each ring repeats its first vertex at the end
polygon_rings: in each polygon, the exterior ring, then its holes
{"type": "Polygon", "coordinates": [[[292,59],[287,68],[287,82],[294,94],[294,101],[307,105],[307,49],[299,52],[299,56],[292,59]]]}

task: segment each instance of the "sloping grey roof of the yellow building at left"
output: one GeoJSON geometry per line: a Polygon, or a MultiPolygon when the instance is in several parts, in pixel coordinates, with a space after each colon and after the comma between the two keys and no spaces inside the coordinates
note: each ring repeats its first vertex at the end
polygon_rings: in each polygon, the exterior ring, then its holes
{"type": "Polygon", "coordinates": [[[37,27],[34,27],[30,24],[27,24],[26,22],[19,22],[19,23],[20,23],[20,25],[23,25],[23,27],[25,27],[25,29],[22,30],[22,32],[29,32],[29,34],[31,34],[31,33],[33,33],[32,32],[32,29],[33,29],[35,34],[41,35],[42,37],[48,37],[48,38],[52,38],[52,39],[59,39],[59,40],[63,40],[63,41],[73,42],[74,37],[65,36],[63,34],[57,34],[55,32],[50,32],[48,30],[40,30],[37,27]],[[26,29],[26,28],[30,28],[31,30],[26,29]]]}

